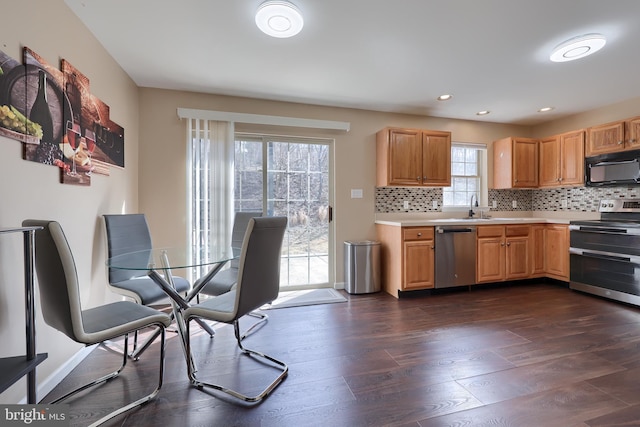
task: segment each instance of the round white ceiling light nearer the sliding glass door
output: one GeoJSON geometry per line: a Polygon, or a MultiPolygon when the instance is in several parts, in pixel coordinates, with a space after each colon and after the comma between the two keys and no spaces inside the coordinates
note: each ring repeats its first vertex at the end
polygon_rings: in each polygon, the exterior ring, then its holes
{"type": "Polygon", "coordinates": [[[288,1],[266,1],[258,7],[256,25],[271,37],[295,36],[302,30],[302,14],[288,1]]]}

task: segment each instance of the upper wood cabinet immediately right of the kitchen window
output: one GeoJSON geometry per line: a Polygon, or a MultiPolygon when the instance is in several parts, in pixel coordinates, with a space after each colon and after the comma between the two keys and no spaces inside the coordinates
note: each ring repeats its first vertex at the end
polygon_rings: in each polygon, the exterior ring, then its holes
{"type": "Polygon", "coordinates": [[[538,186],[538,140],[503,138],[493,142],[493,188],[538,186]]]}

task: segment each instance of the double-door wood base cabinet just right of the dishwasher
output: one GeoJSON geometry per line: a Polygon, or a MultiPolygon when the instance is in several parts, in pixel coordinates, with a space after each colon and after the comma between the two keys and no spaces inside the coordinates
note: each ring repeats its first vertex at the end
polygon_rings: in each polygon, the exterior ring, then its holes
{"type": "Polygon", "coordinates": [[[477,283],[524,279],[531,275],[530,225],[481,225],[476,232],[477,283]]]}

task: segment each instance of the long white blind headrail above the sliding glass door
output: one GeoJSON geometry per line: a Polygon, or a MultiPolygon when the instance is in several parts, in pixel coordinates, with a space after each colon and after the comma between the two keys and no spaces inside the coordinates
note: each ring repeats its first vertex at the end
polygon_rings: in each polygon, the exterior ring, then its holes
{"type": "Polygon", "coordinates": [[[178,117],[181,119],[215,120],[220,122],[329,129],[343,132],[348,132],[351,128],[350,122],[268,116],[263,114],[231,113],[228,111],[196,110],[192,108],[178,108],[178,117]]]}

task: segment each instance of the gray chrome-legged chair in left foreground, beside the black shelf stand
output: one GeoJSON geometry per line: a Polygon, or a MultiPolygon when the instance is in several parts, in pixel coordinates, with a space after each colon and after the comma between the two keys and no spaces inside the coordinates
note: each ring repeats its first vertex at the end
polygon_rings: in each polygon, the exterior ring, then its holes
{"type": "MultiPolygon", "coordinates": [[[[35,266],[40,289],[40,307],[44,321],[72,340],[93,345],[128,335],[140,329],[155,327],[160,331],[160,365],[158,385],[150,394],[105,415],[92,425],[102,424],[136,406],[153,399],[162,386],[164,374],[165,328],[171,324],[166,313],[131,301],[119,301],[82,309],[76,265],[62,227],[55,221],[25,220],[23,226],[41,226],[35,233],[35,266]]],[[[59,403],[76,393],[115,378],[127,363],[124,352],[122,365],[114,372],[83,385],[50,402],[59,403]]],[[[137,387],[136,387],[137,388],[137,387]]]]}

